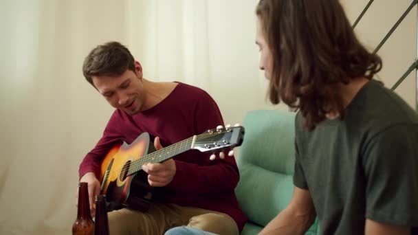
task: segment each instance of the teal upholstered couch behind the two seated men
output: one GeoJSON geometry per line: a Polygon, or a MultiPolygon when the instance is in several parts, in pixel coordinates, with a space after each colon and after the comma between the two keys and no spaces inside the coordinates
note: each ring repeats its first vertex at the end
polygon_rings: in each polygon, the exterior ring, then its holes
{"type": "MultiPolygon", "coordinates": [[[[245,115],[244,141],[236,157],[241,175],[236,197],[248,218],[243,235],[260,232],[292,198],[294,117],[295,113],[278,110],[245,115]]],[[[305,234],[320,234],[318,220],[305,234]]]]}

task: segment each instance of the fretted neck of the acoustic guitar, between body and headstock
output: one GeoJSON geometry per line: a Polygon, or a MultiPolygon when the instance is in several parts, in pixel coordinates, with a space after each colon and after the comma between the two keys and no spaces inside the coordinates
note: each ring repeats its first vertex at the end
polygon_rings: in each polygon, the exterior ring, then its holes
{"type": "Polygon", "coordinates": [[[184,139],[181,142],[172,144],[160,150],[156,150],[153,153],[142,156],[140,159],[132,161],[131,165],[129,166],[128,175],[135,174],[136,172],[142,170],[142,165],[144,164],[159,163],[190,150],[195,139],[196,136],[192,136],[188,139],[184,139]]]}

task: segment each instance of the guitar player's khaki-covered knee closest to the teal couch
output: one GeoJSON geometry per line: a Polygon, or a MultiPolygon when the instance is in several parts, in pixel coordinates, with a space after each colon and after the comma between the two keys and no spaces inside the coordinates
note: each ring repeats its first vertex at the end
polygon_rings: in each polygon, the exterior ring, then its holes
{"type": "Polygon", "coordinates": [[[220,235],[239,234],[235,221],[228,214],[222,213],[206,213],[194,216],[190,219],[188,227],[220,235]]]}

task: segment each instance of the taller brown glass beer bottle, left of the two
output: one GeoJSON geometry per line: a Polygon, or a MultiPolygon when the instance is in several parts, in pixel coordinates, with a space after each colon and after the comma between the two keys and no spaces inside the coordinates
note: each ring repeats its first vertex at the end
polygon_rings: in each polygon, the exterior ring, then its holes
{"type": "Polygon", "coordinates": [[[91,219],[89,189],[86,182],[78,183],[77,219],[73,223],[73,235],[93,235],[94,221],[91,219]]]}

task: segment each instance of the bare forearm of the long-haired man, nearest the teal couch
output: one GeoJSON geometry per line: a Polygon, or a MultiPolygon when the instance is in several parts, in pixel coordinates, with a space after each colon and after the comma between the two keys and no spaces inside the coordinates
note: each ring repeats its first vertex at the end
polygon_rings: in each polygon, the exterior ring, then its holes
{"type": "Polygon", "coordinates": [[[314,223],[315,211],[298,213],[286,208],[268,223],[259,235],[304,234],[314,223]]]}

